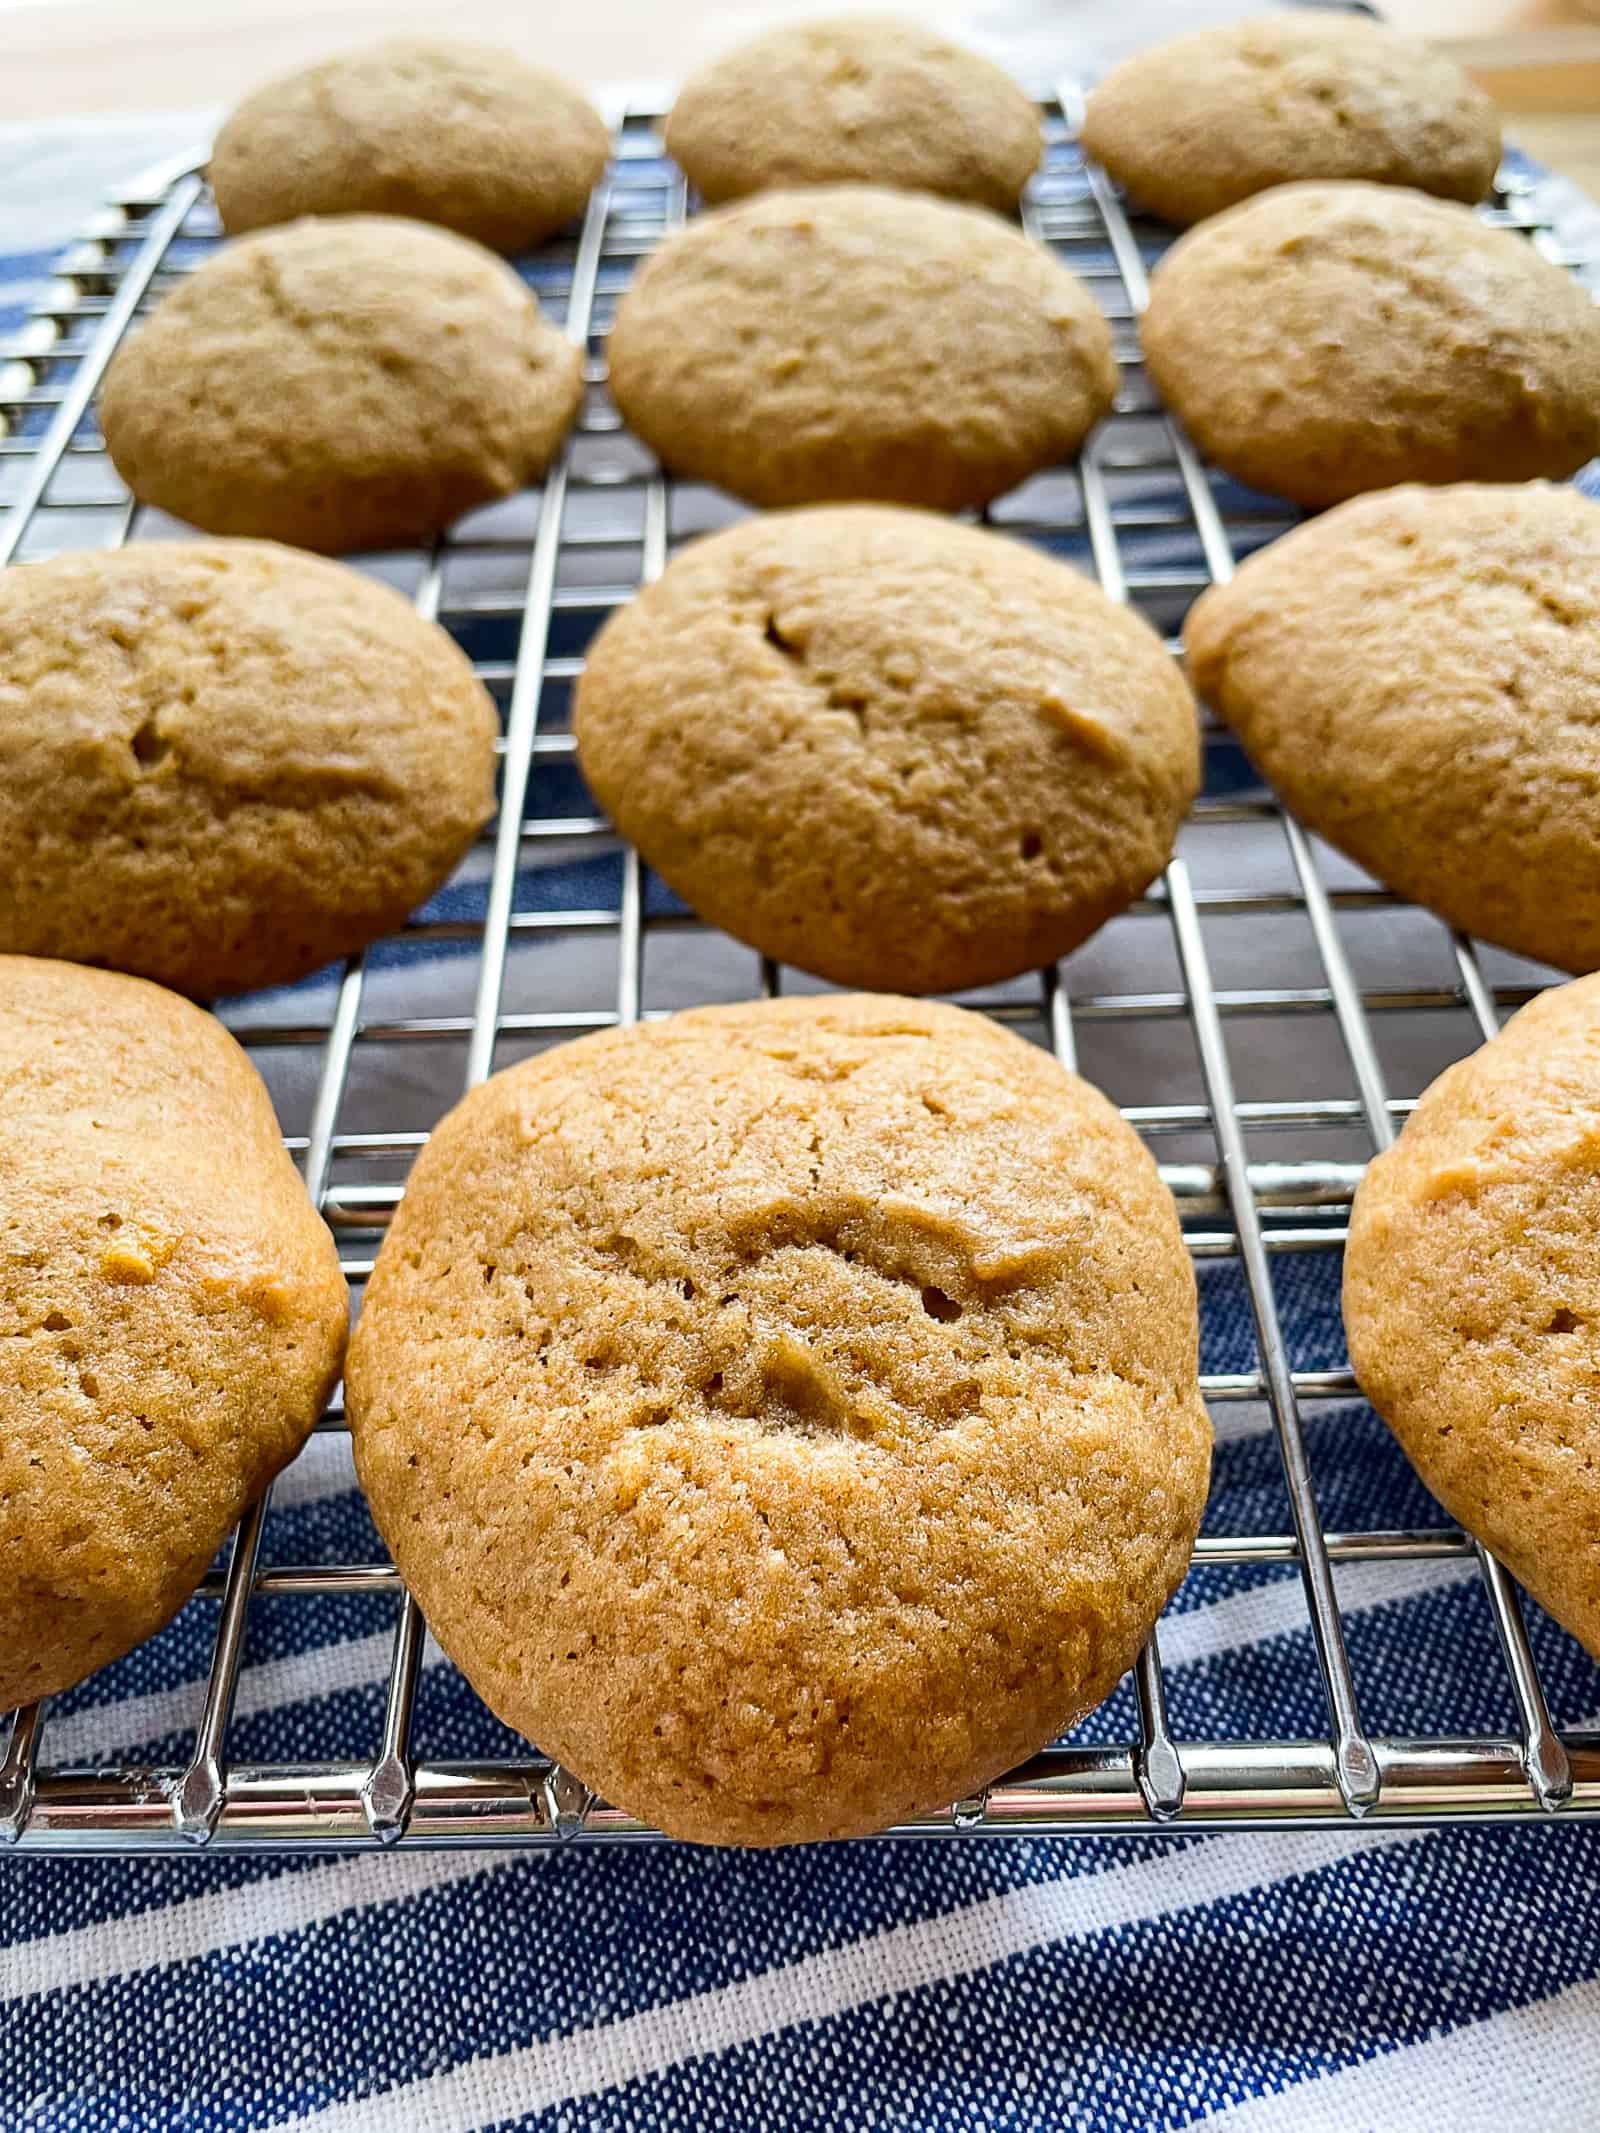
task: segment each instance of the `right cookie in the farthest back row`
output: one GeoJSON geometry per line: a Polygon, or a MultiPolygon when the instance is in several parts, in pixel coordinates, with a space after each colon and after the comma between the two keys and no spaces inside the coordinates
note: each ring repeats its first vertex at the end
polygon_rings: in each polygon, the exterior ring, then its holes
{"type": "Polygon", "coordinates": [[[1082,141],[1141,207],[1180,224],[1295,179],[1472,203],[1500,166],[1495,107],[1455,60],[1316,9],[1193,30],[1124,60],[1090,92],[1082,141]]]}

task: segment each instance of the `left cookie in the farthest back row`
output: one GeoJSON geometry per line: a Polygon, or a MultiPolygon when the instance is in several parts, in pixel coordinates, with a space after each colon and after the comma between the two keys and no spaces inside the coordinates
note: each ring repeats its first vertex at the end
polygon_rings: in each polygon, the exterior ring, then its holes
{"type": "Polygon", "coordinates": [[[580,215],[602,115],[493,45],[395,36],[269,81],[211,147],[230,237],[297,215],[410,215],[521,252],[580,215]]]}

